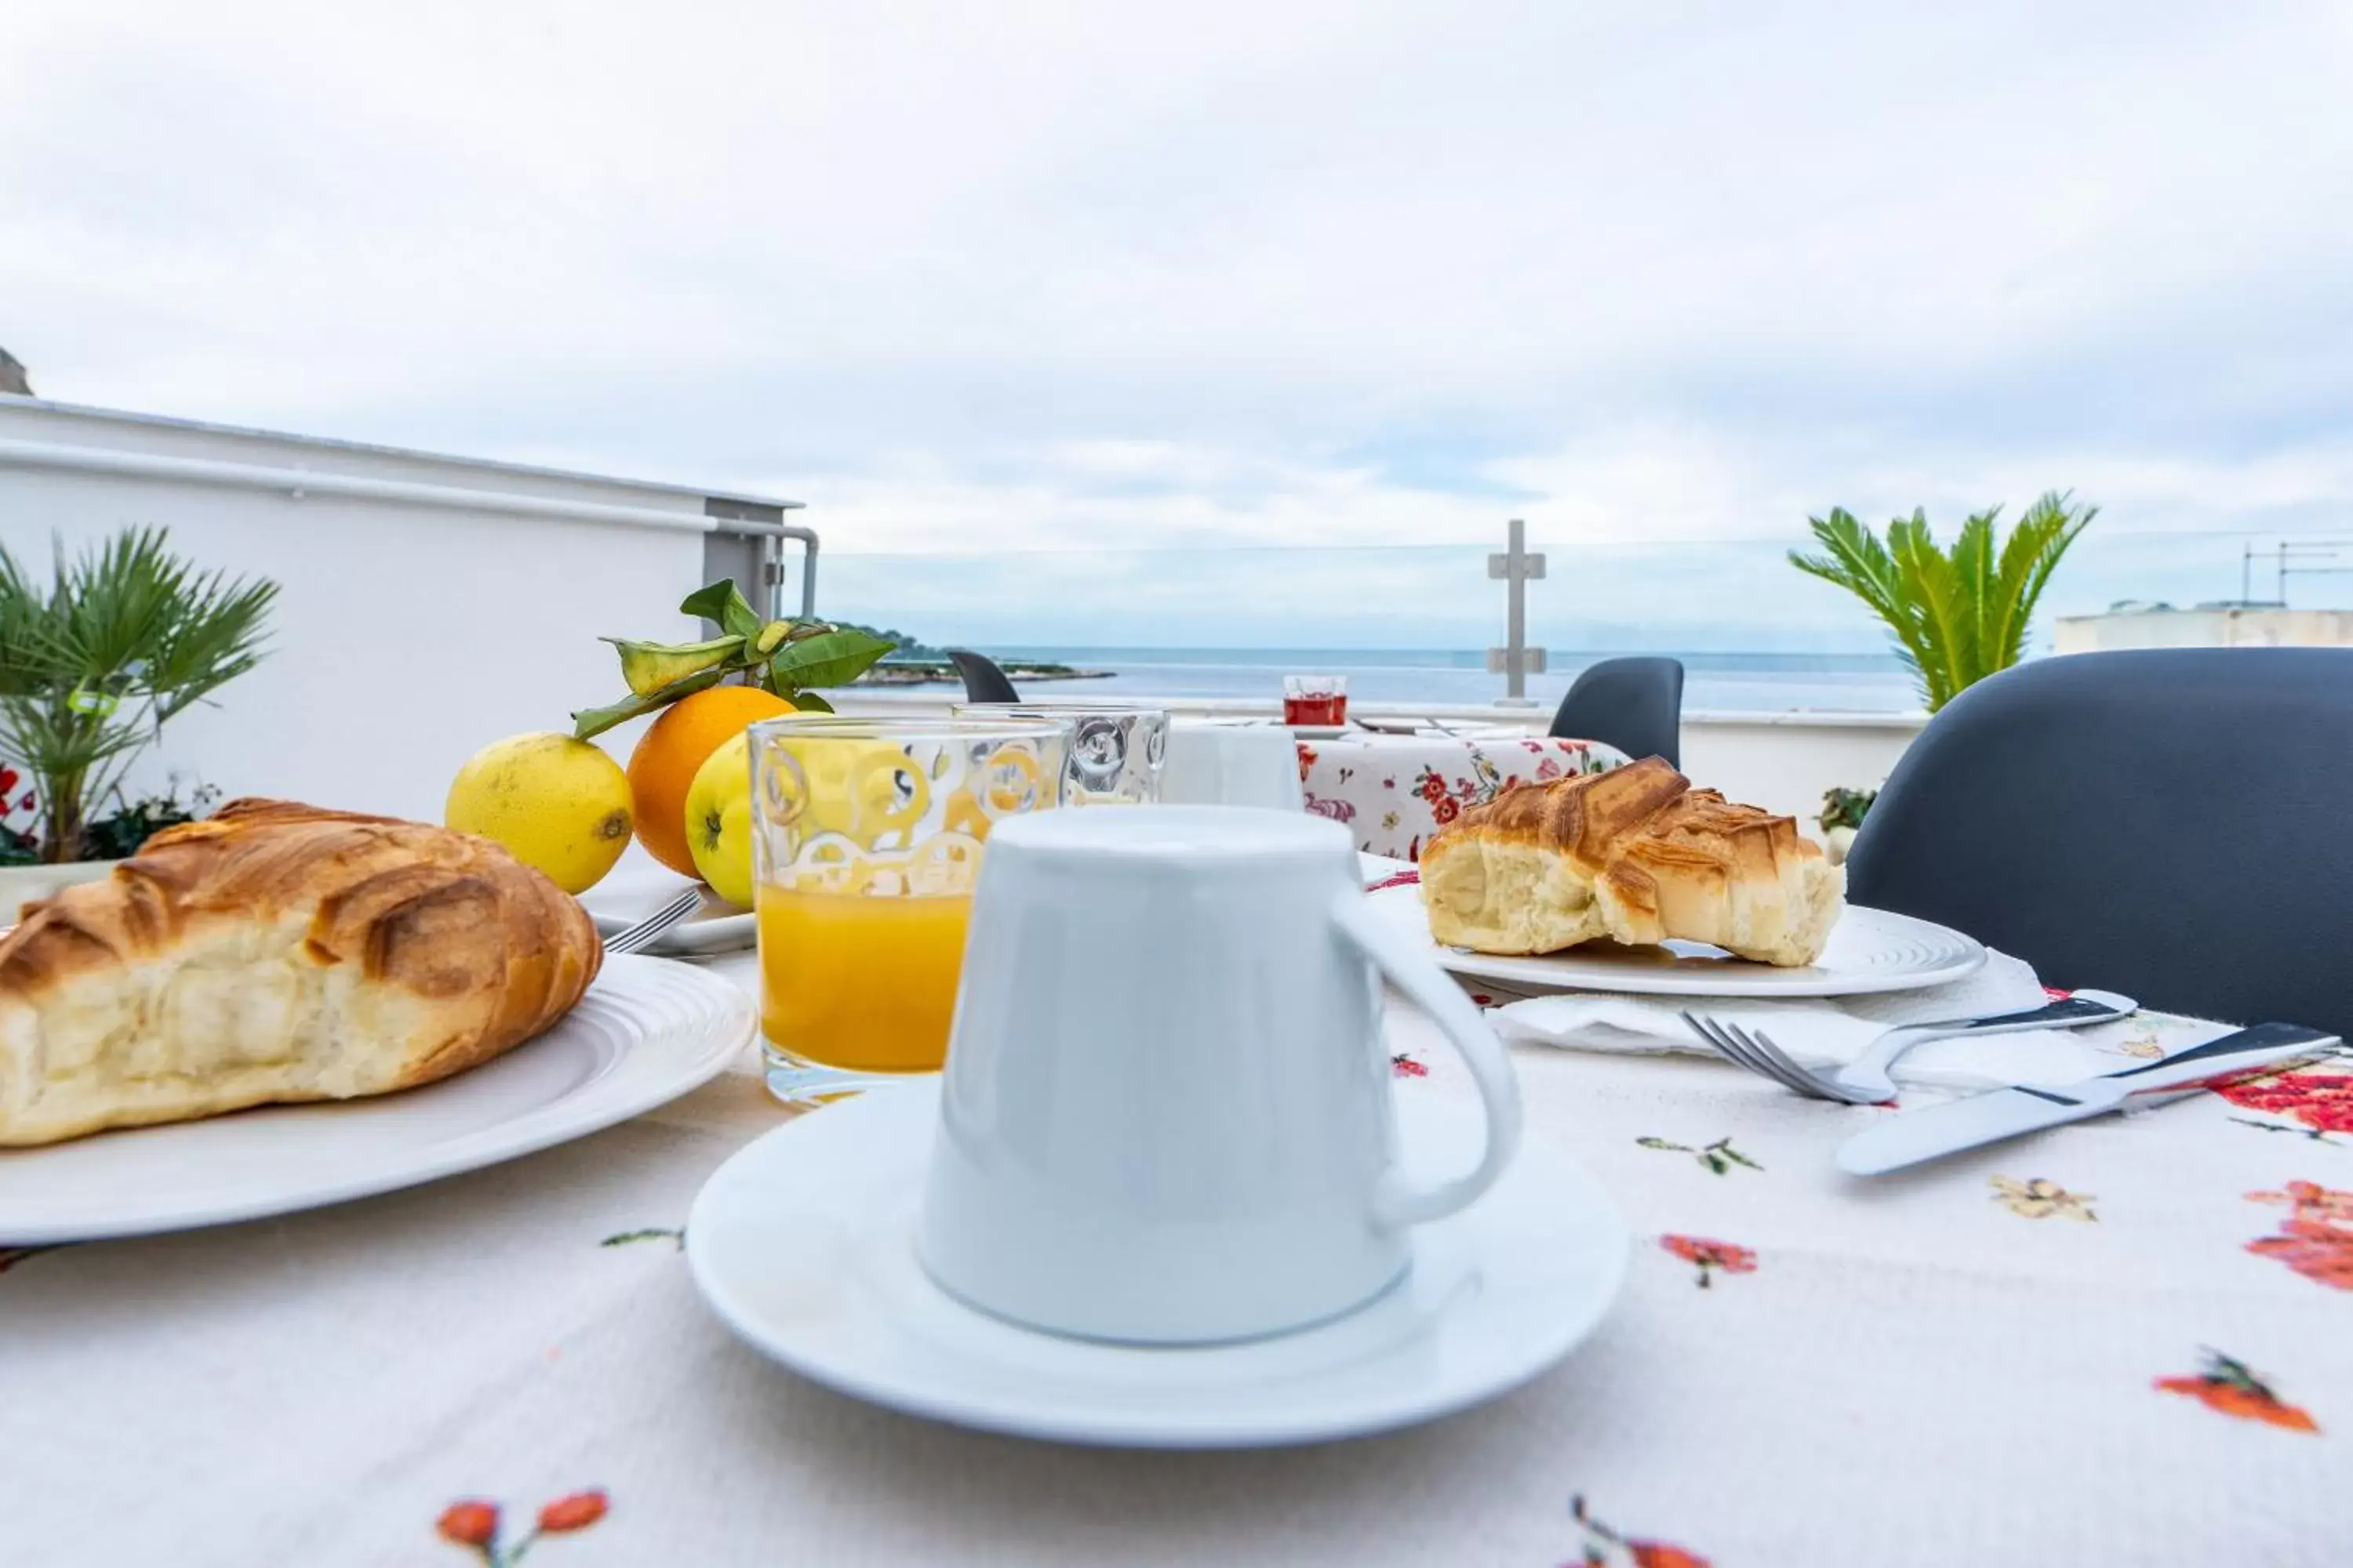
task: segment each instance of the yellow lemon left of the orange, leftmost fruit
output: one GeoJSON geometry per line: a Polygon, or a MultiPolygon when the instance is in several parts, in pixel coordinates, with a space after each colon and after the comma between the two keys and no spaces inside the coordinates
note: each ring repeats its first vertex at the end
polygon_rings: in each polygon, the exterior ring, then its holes
{"type": "Polygon", "coordinates": [[[562,891],[586,893],[628,849],[628,776],[586,741],[508,736],[456,771],[442,820],[494,839],[562,891]]]}

